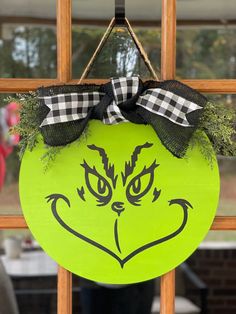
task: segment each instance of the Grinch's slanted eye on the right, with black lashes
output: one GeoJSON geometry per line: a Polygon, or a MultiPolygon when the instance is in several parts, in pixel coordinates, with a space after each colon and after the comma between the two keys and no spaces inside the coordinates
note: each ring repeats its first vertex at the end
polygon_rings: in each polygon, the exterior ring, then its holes
{"type": "Polygon", "coordinates": [[[140,206],[140,204],[137,203],[152,187],[154,170],[158,166],[155,160],[149,168],[144,167],[143,170],[129,182],[126,188],[126,197],[131,204],[140,206]]]}

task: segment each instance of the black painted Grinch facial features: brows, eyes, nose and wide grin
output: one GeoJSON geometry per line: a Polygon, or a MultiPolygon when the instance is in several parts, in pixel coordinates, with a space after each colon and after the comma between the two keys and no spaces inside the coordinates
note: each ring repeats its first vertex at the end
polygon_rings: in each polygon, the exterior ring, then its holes
{"type": "MultiPolygon", "coordinates": [[[[144,250],[149,249],[152,246],[161,244],[165,241],[168,241],[174,237],[176,237],[185,227],[188,220],[188,207],[192,208],[192,205],[185,199],[172,199],[169,201],[169,206],[171,205],[179,205],[183,213],[183,219],[180,226],[170,234],[167,234],[164,237],[157,238],[154,241],[146,243],[140,247],[137,247],[133,252],[131,252],[126,257],[122,258],[122,249],[119,243],[119,217],[121,213],[125,210],[129,210],[130,206],[142,206],[142,198],[145,197],[146,194],[150,192],[152,189],[152,203],[156,202],[161,194],[161,190],[157,190],[156,187],[153,187],[154,179],[155,179],[155,170],[159,166],[156,163],[156,160],[153,161],[148,167],[144,166],[142,171],[136,175],[133,175],[135,172],[136,163],[138,163],[139,155],[143,149],[148,149],[153,146],[152,143],[146,142],[143,145],[136,146],[130,161],[125,162],[124,171],[119,174],[115,174],[115,166],[109,162],[108,156],[104,150],[104,148],[98,147],[96,145],[88,145],[88,149],[91,149],[97,152],[101,158],[101,163],[103,166],[103,174],[99,173],[96,169],[96,166],[90,166],[85,160],[81,164],[81,166],[85,170],[85,183],[86,188],[89,193],[95,198],[97,202],[97,206],[106,206],[108,210],[114,211],[116,215],[114,215],[114,241],[116,245],[116,250],[113,252],[104,245],[96,242],[94,239],[91,239],[77,230],[71,228],[61,217],[57,210],[58,200],[64,200],[68,207],[70,207],[70,200],[66,195],[63,194],[51,194],[46,197],[49,201],[52,201],[52,212],[56,220],[59,224],[65,228],[68,232],[78,237],[82,241],[86,241],[87,243],[95,246],[96,248],[106,252],[111,257],[115,258],[121,265],[124,267],[125,263],[127,263],[131,258],[134,258],[137,254],[141,253],[144,250]],[[117,179],[121,177],[122,189],[123,189],[123,198],[120,200],[113,199],[114,190],[117,187],[117,179]],[[130,179],[129,179],[130,178],[130,179]],[[127,205],[125,206],[125,200],[127,205]],[[127,207],[127,208],[126,208],[127,207]]],[[[80,189],[77,188],[77,192],[82,201],[86,203],[86,195],[85,188],[82,186],[80,189]]],[[[149,204],[151,206],[152,204],[149,204]]],[[[152,205],[154,207],[154,205],[152,205]]],[[[144,209],[145,210],[145,209],[144,209]]],[[[134,216],[135,219],[135,216],[134,216]]],[[[111,236],[113,236],[111,234],[111,236]]],[[[158,237],[158,236],[157,236],[158,237]]]]}

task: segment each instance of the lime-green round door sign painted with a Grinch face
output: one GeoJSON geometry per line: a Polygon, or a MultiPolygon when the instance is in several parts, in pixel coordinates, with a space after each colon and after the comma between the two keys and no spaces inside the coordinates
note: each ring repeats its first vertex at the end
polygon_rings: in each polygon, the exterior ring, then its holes
{"type": "Polygon", "coordinates": [[[46,172],[44,152],[39,141],[22,161],[24,216],[42,248],[79,276],[110,284],[160,276],[188,258],[212,224],[218,167],[198,146],[177,158],[151,126],[92,120],[46,172]]]}

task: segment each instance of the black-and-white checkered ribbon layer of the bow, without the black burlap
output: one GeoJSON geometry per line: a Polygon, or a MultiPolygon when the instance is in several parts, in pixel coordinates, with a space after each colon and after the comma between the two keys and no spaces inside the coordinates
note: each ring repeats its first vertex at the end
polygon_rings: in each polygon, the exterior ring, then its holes
{"type": "MultiPolygon", "coordinates": [[[[139,78],[114,78],[111,79],[111,85],[114,100],[104,111],[102,121],[105,124],[128,122],[122,115],[119,105],[137,94],[139,78]]],[[[41,123],[41,127],[85,119],[89,110],[96,107],[103,97],[104,93],[101,92],[43,96],[41,100],[50,111],[41,123]]],[[[188,113],[202,109],[196,103],[161,88],[146,90],[138,97],[136,105],[183,127],[191,126],[186,117],[188,113]]]]}

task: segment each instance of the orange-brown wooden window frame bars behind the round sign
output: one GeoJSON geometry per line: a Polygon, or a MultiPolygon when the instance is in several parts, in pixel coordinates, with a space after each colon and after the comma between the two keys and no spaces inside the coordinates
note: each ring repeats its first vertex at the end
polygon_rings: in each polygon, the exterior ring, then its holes
{"type": "MultiPolygon", "coordinates": [[[[19,93],[44,85],[76,84],[72,79],[72,0],[57,0],[57,78],[0,78],[0,93],[19,93]]],[[[162,0],[161,79],[174,79],[176,70],[176,0],[162,0]]],[[[106,80],[86,79],[82,83],[101,84],[106,80]]],[[[192,79],[183,83],[203,93],[236,94],[236,79],[192,79]]],[[[0,216],[0,229],[26,229],[23,216],[0,216]]],[[[236,216],[216,216],[211,230],[236,230],[236,216]]],[[[58,268],[58,314],[72,314],[72,274],[58,268]]],[[[161,314],[175,313],[175,270],[161,277],[161,314]]]]}

